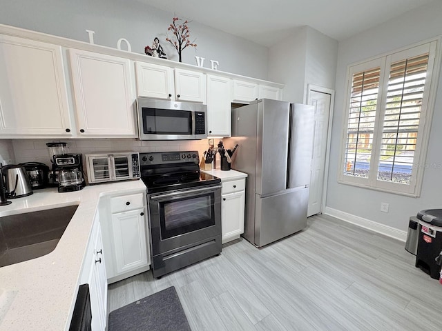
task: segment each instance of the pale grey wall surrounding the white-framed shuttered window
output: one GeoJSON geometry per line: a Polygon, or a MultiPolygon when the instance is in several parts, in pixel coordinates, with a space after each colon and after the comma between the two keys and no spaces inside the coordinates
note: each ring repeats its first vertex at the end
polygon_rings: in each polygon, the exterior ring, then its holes
{"type": "Polygon", "coordinates": [[[386,227],[406,231],[409,217],[416,215],[419,210],[442,208],[442,81],[439,81],[437,90],[430,146],[425,162],[428,168],[423,178],[421,197],[404,197],[337,183],[341,134],[345,130],[343,117],[347,66],[440,34],[442,34],[442,2],[433,1],[339,43],[327,209],[332,208],[332,212],[347,213],[349,218],[356,216],[362,218],[362,221],[374,221],[386,227]],[[381,202],[390,203],[390,212],[380,211],[381,202]]]}

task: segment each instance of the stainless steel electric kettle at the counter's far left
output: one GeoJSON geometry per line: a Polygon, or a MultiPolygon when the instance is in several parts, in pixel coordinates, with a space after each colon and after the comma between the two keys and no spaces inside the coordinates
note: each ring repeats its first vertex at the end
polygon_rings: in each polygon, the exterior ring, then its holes
{"type": "Polygon", "coordinates": [[[6,195],[10,199],[26,197],[32,194],[32,186],[25,167],[22,165],[5,165],[3,167],[6,195]]]}

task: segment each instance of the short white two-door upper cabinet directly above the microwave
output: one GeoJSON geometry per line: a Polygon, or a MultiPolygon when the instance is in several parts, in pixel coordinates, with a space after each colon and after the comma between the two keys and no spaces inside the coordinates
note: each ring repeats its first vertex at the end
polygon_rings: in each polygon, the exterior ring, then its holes
{"type": "Polygon", "coordinates": [[[135,62],[137,95],[171,101],[206,103],[206,80],[202,72],[135,62]]]}

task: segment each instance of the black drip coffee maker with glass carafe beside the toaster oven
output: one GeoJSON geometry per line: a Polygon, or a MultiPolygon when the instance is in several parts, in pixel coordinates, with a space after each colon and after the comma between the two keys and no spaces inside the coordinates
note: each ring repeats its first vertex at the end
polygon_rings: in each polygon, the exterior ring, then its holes
{"type": "Polygon", "coordinates": [[[81,154],[60,154],[52,158],[54,171],[58,174],[58,192],[73,192],[84,188],[86,184],[81,154]]]}

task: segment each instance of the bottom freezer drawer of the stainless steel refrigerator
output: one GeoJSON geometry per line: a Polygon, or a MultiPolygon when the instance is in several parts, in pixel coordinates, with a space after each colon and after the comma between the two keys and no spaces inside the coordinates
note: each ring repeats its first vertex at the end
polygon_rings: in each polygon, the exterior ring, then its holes
{"type": "Polygon", "coordinates": [[[255,242],[258,247],[307,227],[309,188],[261,198],[256,194],[255,242]]]}

